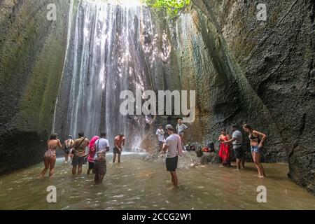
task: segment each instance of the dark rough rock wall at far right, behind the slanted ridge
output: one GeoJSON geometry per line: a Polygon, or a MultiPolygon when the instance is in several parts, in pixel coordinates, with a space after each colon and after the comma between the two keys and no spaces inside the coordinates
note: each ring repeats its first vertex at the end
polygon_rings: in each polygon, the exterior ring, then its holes
{"type": "Polygon", "coordinates": [[[223,97],[215,117],[221,106],[238,108],[225,124],[244,121],[265,132],[265,160],[288,160],[290,179],[315,193],[314,1],[267,1],[267,21],[256,19],[260,1],[193,2],[197,18],[204,14],[213,23],[239,67],[239,86],[252,90],[249,104],[223,97]],[[260,102],[263,110],[251,102],[260,102]]]}

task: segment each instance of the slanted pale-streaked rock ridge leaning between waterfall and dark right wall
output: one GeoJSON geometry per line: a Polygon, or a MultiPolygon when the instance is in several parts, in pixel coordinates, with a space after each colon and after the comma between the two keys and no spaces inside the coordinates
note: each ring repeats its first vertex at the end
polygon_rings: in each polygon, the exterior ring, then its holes
{"type": "MultiPolygon", "coordinates": [[[[181,84],[185,90],[196,90],[197,96],[196,120],[189,125],[186,139],[217,143],[221,128],[232,135],[233,123],[239,125],[239,130],[242,124],[249,123],[268,136],[262,160],[286,162],[276,123],[231,55],[216,18],[193,6],[189,13],[181,15],[176,27],[174,42],[178,45],[181,84]]],[[[247,133],[244,142],[246,158],[251,161],[247,133]]]]}

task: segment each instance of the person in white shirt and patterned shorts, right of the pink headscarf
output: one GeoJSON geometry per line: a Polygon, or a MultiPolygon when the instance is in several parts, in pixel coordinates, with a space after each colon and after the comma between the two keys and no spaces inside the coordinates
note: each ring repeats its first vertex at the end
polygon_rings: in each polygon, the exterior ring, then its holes
{"type": "Polygon", "coordinates": [[[102,183],[107,171],[106,152],[109,151],[109,140],[106,139],[106,133],[102,132],[100,138],[95,141],[94,172],[95,183],[102,183]]]}

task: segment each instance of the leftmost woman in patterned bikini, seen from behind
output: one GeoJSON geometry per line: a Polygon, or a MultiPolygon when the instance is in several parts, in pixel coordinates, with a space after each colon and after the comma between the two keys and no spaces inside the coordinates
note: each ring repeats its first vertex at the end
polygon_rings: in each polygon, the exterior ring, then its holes
{"type": "Polygon", "coordinates": [[[62,144],[60,143],[60,140],[57,137],[57,134],[50,135],[49,140],[47,141],[47,151],[44,155],[44,165],[45,168],[39,174],[39,178],[42,178],[45,176],[48,169],[50,169],[49,176],[52,176],[54,174],[54,167],[56,163],[56,149],[62,148],[62,144]]]}

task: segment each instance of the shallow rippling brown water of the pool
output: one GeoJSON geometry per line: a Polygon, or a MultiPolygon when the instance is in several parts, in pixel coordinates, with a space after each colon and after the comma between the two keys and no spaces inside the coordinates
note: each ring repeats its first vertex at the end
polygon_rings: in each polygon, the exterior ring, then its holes
{"type": "Polygon", "coordinates": [[[218,165],[179,169],[174,190],[164,163],[144,156],[126,153],[122,164],[113,164],[108,155],[99,186],[92,175],[72,176],[62,159],[52,179],[36,179],[43,164],[1,176],[0,209],[315,209],[315,197],[286,177],[286,164],[264,165],[266,179],[257,177],[253,164],[246,171],[218,165]],[[57,188],[55,204],[46,202],[48,186],[57,188]],[[267,203],[256,201],[258,186],[266,186],[267,203]]]}

